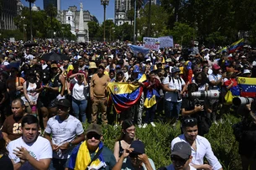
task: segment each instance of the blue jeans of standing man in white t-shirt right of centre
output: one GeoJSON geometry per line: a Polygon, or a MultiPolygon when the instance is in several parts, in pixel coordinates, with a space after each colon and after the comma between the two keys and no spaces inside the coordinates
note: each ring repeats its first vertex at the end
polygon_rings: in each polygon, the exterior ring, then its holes
{"type": "Polygon", "coordinates": [[[173,102],[165,100],[166,118],[177,120],[179,118],[181,104],[182,102],[173,102]]]}

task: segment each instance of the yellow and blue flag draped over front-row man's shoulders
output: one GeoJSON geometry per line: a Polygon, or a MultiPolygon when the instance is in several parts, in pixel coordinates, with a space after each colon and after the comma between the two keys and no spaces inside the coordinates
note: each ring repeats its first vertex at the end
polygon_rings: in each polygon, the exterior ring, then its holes
{"type": "MultiPolygon", "coordinates": [[[[96,150],[96,153],[102,149],[103,143],[100,142],[99,147],[96,150]]],[[[88,167],[89,163],[91,162],[90,152],[87,148],[87,142],[82,142],[80,145],[77,145],[70,157],[68,167],[75,170],[85,170],[88,167]]],[[[91,162],[90,167],[88,169],[100,169],[101,167],[106,167],[107,164],[104,162],[104,158],[102,152],[100,153],[99,157],[94,161],[91,162]]]]}

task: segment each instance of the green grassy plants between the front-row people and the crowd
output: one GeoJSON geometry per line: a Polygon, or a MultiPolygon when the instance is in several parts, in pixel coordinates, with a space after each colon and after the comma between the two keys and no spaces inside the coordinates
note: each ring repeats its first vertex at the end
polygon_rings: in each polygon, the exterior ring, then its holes
{"type": "MultiPolygon", "coordinates": [[[[206,138],[212,144],[212,150],[218,160],[222,163],[223,169],[242,169],[238,155],[238,142],[232,134],[232,124],[238,122],[235,116],[225,116],[219,125],[213,124],[206,138]]],[[[85,125],[87,126],[87,125],[85,125]]],[[[107,125],[103,127],[103,142],[113,151],[114,143],[121,134],[121,127],[117,128],[107,125]]],[[[136,129],[136,137],[144,142],[146,153],[155,164],[156,168],[167,166],[170,161],[170,142],[180,135],[180,124],[174,128],[161,122],[156,127],[136,129]]]]}

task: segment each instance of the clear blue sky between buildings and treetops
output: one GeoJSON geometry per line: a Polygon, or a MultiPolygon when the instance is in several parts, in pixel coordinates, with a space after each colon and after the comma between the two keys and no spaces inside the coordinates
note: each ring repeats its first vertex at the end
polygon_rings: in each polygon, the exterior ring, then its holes
{"type": "MultiPolygon", "coordinates": [[[[21,0],[24,6],[29,7],[29,3],[25,0],[21,0]]],[[[103,7],[101,5],[101,0],[60,0],[61,2],[61,10],[69,8],[69,6],[75,5],[78,9],[80,9],[80,2],[83,3],[84,10],[88,10],[92,15],[96,16],[99,20],[99,23],[103,22],[104,13],[103,7]]],[[[34,3],[37,7],[44,9],[43,0],[36,0],[34,3]]],[[[33,5],[32,5],[33,7],[33,5]]],[[[109,5],[106,9],[106,19],[114,18],[114,8],[115,8],[115,0],[110,0],[109,5]]]]}

